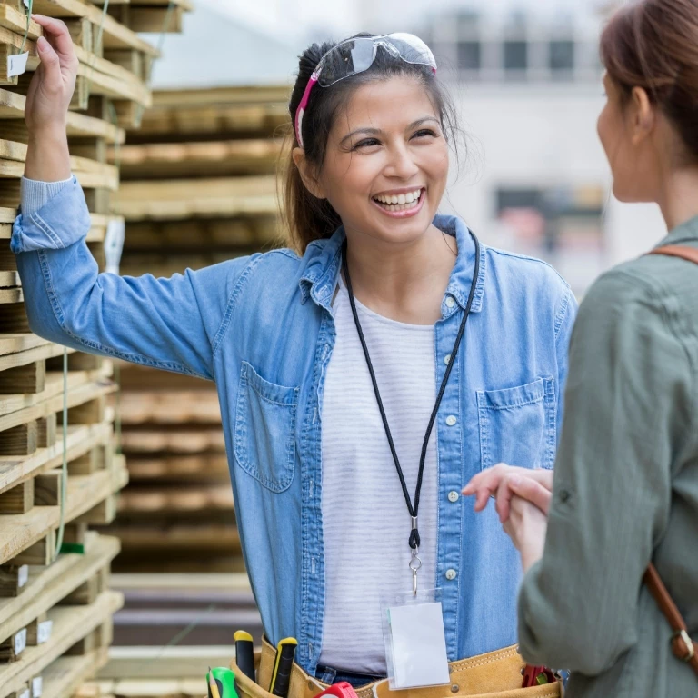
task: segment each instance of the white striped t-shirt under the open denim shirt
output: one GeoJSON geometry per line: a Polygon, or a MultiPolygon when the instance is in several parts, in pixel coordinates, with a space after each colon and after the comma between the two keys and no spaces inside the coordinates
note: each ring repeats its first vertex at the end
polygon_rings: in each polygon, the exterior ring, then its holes
{"type": "MultiPolygon", "coordinates": [[[[436,399],[434,326],[398,323],[356,302],[395,449],[414,502],[424,433],[436,399]]],[[[375,399],[344,283],[334,299],[336,342],[322,406],[325,603],[320,665],[386,673],[384,593],[410,593],[410,515],[375,399]]],[[[434,588],[436,428],[419,505],[420,588],[434,588]]]]}

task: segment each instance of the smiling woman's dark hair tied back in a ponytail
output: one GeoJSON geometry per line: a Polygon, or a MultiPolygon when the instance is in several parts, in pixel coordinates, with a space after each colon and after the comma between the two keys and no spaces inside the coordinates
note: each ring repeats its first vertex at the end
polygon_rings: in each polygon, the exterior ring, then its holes
{"type": "MultiPolygon", "coordinates": [[[[372,35],[358,34],[352,38],[358,36],[372,35]]],[[[334,42],[324,42],[322,45],[313,44],[303,52],[298,63],[298,77],[288,105],[291,127],[286,135],[284,155],[282,155],[285,161],[281,195],[282,219],[287,242],[299,254],[304,254],[306,247],[314,240],[330,237],[342,224],[339,214],[329,201],[318,199],[306,189],[292,157],[294,148],[298,146],[293,129],[295,112],[303,99],[305,86],[308,84],[310,76],[313,75],[314,69],[320,63],[323,55],[335,45],[334,42]]],[[[324,163],[327,139],[334,119],[354,90],[371,80],[384,80],[395,75],[414,77],[424,85],[437,114],[441,117],[446,139],[451,144],[455,143],[455,135],[458,131],[455,110],[444,88],[436,81],[431,68],[405,63],[401,58],[390,55],[379,48],[374,64],[364,73],[340,80],[329,87],[317,85],[310,94],[310,100],[303,117],[303,142],[305,158],[318,172],[324,163]]]]}

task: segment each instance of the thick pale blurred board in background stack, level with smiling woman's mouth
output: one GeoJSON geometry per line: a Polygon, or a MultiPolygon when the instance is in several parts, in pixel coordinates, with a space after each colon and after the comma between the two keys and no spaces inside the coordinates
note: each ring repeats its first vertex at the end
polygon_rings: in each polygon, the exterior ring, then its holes
{"type": "Polygon", "coordinates": [[[274,175],[124,182],[119,190],[119,213],[127,221],[276,211],[274,175]]]}

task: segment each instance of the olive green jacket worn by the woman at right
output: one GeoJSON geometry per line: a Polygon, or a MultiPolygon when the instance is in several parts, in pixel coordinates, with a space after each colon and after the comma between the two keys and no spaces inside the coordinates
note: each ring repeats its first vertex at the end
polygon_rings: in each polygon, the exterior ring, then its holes
{"type": "MultiPolygon", "coordinates": [[[[698,217],[664,244],[698,247],[698,217]]],[[[604,274],[573,329],[545,552],[519,596],[523,656],[569,668],[568,698],[698,696],[650,561],[695,641],[698,265],[663,256],[604,274]]]]}

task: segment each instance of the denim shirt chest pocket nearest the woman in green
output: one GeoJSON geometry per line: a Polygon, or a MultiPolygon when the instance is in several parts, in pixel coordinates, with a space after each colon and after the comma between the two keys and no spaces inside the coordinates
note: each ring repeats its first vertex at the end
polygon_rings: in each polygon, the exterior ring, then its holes
{"type": "Polygon", "coordinates": [[[553,378],[538,378],[503,390],[477,391],[483,470],[498,463],[552,468],[556,410],[553,378]]]}

